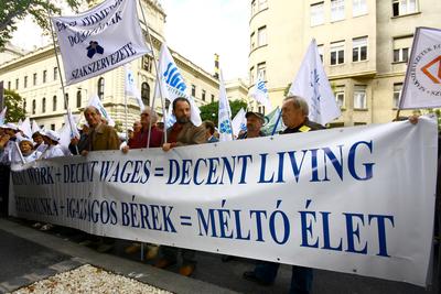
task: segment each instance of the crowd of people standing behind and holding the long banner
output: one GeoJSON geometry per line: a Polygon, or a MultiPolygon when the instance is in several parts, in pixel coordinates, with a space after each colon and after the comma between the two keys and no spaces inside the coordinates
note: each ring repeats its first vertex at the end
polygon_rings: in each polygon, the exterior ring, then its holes
{"type": "MultiPolygon", "coordinates": [[[[161,148],[164,152],[176,146],[214,143],[217,142],[216,128],[213,122],[205,121],[196,127],[191,121],[191,104],[186,98],[176,98],[172,104],[173,115],[176,122],[166,130],[164,141],[163,124],[158,121],[158,115],[147,107],[140,116],[140,120],[133,123],[133,129],[127,142],[120,142],[116,130],[106,124],[100,112],[95,107],[87,107],[84,117],[87,124],[80,131],[79,138],[74,138],[67,148],[60,144],[60,135],[55,131],[37,131],[32,138],[26,138],[13,123],[0,127],[0,179],[9,176],[7,166],[11,163],[28,163],[40,159],[52,159],[66,155],[87,155],[89,152],[104,150],[121,150],[128,154],[130,150],[143,148],[161,148]]],[[[287,97],[281,108],[281,119],[286,129],[281,134],[310,132],[324,129],[323,126],[308,119],[308,102],[297,96],[287,97]]],[[[247,131],[238,135],[238,140],[263,137],[261,128],[265,123],[262,113],[248,111],[246,113],[247,131]]],[[[6,179],[7,181],[7,179],[6,179]]],[[[4,194],[4,193],[3,193],[4,194]]],[[[3,199],[4,195],[2,195],[3,199]]],[[[96,238],[94,236],[88,236],[96,238]]],[[[112,249],[114,240],[110,238],[98,238],[97,251],[106,252],[112,249]]],[[[133,243],[128,251],[139,248],[133,243]]],[[[154,258],[158,246],[148,244],[148,257],[154,258]]],[[[196,252],[189,249],[174,247],[160,247],[160,257],[155,266],[165,269],[176,263],[178,255],[183,261],[180,273],[190,276],[196,266],[196,252]]],[[[224,257],[228,261],[232,257],[224,257]]],[[[275,282],[279,269],[278,263],[259,261],[256,268],[244,273],[244,279],[263,285],[275,282]]],[[[292,265],[292,277],[290,293],[310,293],[312,287],[313,271],[304,266],[292,265]]]]}

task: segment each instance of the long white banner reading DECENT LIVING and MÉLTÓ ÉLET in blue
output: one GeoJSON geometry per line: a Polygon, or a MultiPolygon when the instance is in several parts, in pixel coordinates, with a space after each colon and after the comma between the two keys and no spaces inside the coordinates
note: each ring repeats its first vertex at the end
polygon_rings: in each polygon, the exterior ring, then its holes
{"type": "Polygon", "coordinates": [[[426,285],[437,126],[90,152],[12,173],[12,215],[121,239],[426,285]]]}

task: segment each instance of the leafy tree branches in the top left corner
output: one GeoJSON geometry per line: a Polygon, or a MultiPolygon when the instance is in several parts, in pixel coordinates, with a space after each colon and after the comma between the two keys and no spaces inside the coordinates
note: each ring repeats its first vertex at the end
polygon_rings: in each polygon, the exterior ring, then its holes
{"type": "MultiPolygon", "coordinates": [[[[84,0],[64,0],[69,8],[78,11],[78,7],[84,0]]],[[[53,2],[53,1],[51,1],[53,2]]],[[[86,0],[90,2],[90,0],[86,0]]],[[[32,15],[33,21],[45,32],[50,30],[51,15],[60,15],[61,8],[47,0],[1,0],[0,1],[0,50],[4,47],[17,30],[17,23],[28,14],[32,15]]]]}

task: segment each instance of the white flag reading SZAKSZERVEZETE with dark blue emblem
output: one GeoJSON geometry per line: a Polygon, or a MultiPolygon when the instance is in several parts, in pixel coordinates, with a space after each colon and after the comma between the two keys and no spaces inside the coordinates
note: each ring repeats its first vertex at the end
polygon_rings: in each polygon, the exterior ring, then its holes
{"type": "Polygon", "coordinates": [[[137,1],[107,0],[73,17],[51,18],[66,85],[150,54],[139,25],[137,1]]]}

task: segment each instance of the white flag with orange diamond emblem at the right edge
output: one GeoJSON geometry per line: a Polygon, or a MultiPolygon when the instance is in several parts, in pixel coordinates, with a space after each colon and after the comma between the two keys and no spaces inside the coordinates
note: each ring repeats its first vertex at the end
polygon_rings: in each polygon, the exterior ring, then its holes
{"type": "Polygon", "coordinates": [[[417,28],[399,109],[441,107],[441,30],[417,28]]]}

